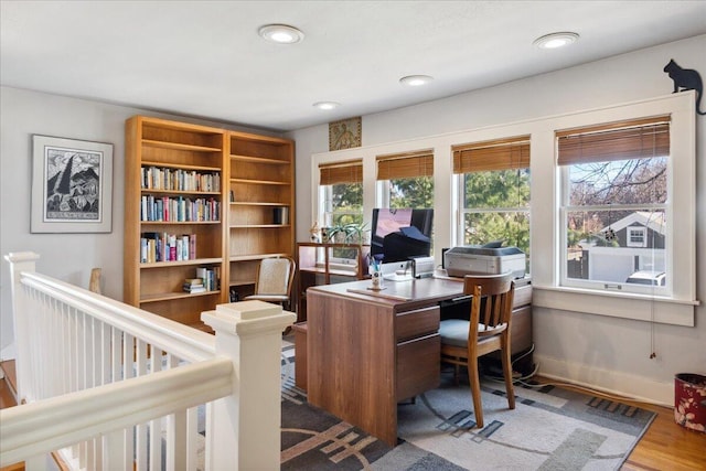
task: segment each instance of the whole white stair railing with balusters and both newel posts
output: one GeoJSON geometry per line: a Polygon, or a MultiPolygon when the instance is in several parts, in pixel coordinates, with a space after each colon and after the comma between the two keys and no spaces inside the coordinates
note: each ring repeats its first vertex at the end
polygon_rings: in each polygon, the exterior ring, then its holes
{"type": "Polygon", "coordinates": [[[0,467],[279,469],[281,332],[259,301],[202,319],[215,336],[35,272],[10,254],[19,399],[0,467]],[[205,438],[202,433],[205,432],[205,438]]]}

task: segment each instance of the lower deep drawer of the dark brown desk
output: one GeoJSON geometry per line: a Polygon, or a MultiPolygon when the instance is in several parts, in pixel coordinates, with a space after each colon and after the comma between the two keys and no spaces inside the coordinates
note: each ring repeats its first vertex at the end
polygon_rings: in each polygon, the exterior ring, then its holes
{"type": "Polygon", "coordinates": [[[438,333],[397,344],[397,400],[439,387],[440,355],[438,333]]]}

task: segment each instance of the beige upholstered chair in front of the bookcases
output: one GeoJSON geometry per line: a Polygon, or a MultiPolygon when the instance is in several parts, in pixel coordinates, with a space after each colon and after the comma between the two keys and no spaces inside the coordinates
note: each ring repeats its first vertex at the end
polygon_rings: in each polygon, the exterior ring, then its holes
{"type": "Polygon", "coordinates": [[[296,265],[290,257],[260,260],[255,277],[255,293],[246,296],[244,300],[276,302],[289,309],[296,265]]]}

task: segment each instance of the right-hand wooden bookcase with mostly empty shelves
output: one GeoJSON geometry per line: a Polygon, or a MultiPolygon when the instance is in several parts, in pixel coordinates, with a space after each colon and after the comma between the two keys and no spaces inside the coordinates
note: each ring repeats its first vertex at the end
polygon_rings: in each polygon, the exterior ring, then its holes
{"type": "Polygon", "coordinates": [[[239,299],[263,258],[295,253],[295,142],[229,131],[228,272],[239,299]]]}

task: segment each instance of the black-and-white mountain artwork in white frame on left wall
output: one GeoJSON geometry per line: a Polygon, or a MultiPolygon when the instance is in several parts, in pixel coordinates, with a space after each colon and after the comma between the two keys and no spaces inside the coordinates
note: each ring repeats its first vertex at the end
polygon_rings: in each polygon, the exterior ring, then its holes
{"type": "Polygon", "coordinates": [[[113,231],[113,144],[32,136],[32,233],[113,231]]]}

